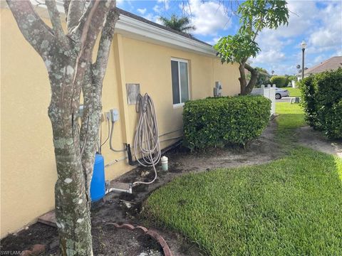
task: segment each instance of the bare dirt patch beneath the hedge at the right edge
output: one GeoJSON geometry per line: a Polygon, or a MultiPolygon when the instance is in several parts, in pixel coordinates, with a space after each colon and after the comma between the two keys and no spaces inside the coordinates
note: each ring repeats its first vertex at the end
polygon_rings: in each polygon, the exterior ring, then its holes
{"type": "Polygon", "coordinates": [[[296,136],[299,138],[299,144],[303,146],[342,158],[342,142],[330,141],[321,132],[309,126],[297,129],[296,136]]]}

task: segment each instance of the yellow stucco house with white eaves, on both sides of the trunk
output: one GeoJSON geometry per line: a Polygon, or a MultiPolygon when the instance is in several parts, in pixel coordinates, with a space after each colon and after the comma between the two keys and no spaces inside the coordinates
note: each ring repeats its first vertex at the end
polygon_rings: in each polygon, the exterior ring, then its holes
{"type": "MultiPolygon", "coordinates": [[[[46,9],[36,9],[48,23],[46,9]]],[[[222,84],[222,95],[239,93],[237,64],[222,65],[207,43],[127,11],[121,11],[112,47],[103,82],[103,113],[111,109],[119,112],[113,134],[116,149],[133,144],[138,114],[135,105],[128,104],[130,87],[135,86],[130,84],[139,84],[141,94],[147,92],[154,100],[162,148],[182,135],[186,100],[212,96],[216,81],[222,84]]],[[[3,238],[54,208],[56,182],[46,67],[24,40],[4,1],[0,71],[3,238]]],[[[101,127],[104,142],[108,123],[104,121],[101,127]]],[[[108,144],[102,153],[106,179],[134,168],[125,159],[125,152],[110,151],[108,144]]]]}

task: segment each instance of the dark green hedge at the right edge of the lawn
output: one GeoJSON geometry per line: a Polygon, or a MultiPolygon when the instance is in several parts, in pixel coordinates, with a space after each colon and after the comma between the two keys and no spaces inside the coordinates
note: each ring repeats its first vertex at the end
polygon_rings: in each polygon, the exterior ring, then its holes
{"type": "Polygon", "coordinates": [[[299,83],[306,121],[330,139],[342,139],[342,68],[299,83]]]}

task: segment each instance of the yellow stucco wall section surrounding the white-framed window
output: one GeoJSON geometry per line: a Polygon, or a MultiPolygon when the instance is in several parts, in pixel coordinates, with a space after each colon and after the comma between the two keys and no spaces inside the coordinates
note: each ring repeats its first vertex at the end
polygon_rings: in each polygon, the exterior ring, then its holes
{"type": "MultiPolygon", "coordinates": [[[[215,81],[222,82],[223,95],[239,93],[238,65],[221,65],[217,58],[131,38],[123,38],[123,52],[126,82],[139,83],[141,94],[147,92],[154,100],[160,134],[182,127],[182,107],[172,105],[171,58],[189,61],[190,99],[212,96],[215,81]]],[[[135,106],[128,108],[135,117],[135,106]]],[[[134,134],[136,121],[130,118],[130,134],[134,134]]]]}

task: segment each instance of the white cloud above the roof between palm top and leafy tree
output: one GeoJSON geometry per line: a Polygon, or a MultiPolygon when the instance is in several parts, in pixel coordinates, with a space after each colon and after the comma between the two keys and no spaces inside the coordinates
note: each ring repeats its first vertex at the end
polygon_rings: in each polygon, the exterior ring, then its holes
{"type": "Polygon", "coordinates": [[[189,0],[181,9],[190,14],[190,21],[196,27],[193,34],[217,36],[219,30],[227,30],[231,23],[224,6],[214,1],[189,0]]]}

